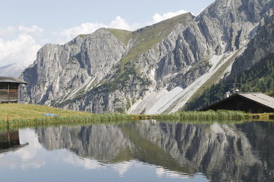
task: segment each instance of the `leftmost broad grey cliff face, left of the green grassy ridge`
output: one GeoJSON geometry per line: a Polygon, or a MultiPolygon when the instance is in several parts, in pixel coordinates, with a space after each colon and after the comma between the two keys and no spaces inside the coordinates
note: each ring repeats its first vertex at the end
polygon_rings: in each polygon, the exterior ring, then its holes
{"type": "Polygon", "coordinates": [[[53,104],[73,97],[73,91],[97,85],[123,52],[123,43],[106,29],[79,35],[63,46],[47,44],[39,50],[34,65],[23,72],[29,85],[22,98],[34,104],[53,104]]]}

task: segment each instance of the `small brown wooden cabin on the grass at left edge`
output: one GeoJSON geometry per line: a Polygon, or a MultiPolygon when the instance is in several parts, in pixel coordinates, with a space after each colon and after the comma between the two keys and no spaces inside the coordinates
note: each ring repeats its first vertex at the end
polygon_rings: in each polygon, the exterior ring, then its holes
{"type": "Polygon", "coordinates": [[[14,77],[0,76],[0,103],[17,103],[20,84],[27,82],[14,77]]]}

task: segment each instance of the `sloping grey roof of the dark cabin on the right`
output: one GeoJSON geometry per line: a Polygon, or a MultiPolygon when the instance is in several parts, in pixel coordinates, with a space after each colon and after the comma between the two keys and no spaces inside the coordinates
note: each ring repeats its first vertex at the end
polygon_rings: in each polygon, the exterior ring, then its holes
{"type": "Polygon", "coordinates": [[[216,106],[222,102],[225,102],[225,101],[230,100],[233,97],[237,97],[237,96],[244,97],[247,100],[251,100],[253,102],[257,102],[258,104],[261,104],[266,107],[274,109],[274,98],[273,97],[270,97],[269,95],[265,95],[264,93],[261,93],[261,92],[255,92],[255,93],[236,93],[230,97],[220,100],[219,102],[211,104],[210,106],[207,106],[206,108],[203,108],[201,110],[208,110],[208,108],[211,108],[212,106],[216,106]]]}

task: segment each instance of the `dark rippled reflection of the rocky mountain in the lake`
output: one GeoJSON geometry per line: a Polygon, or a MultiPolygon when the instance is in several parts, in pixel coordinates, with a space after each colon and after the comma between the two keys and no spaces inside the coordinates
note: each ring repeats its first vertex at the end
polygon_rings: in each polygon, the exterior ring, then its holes
{"type": "Polygon", "coordinates": [[[37,130],[46,149],[118,162],[140,160],[212,181],[271,181],[274,127],[270,123],[192,125],[143,121],[124,125],[37,130]]]}

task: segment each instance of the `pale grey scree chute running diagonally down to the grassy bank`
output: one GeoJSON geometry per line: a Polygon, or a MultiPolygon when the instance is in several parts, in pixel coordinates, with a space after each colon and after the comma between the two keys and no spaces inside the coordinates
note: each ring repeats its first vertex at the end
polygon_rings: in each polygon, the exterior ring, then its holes
{"type": "Polygon", "coordinates": [[[212,67],[210,71],[203,76],[200,76],[195,82],[183,89],[182,87],[175,87],[171,91],[167,91],[166,88],[161,89],[158,92],[152,91],[147,97],[139,100],[129,109],[130,114],[144,113],[147,115],[161,114],[163,112],[172,113],[177,112],[182,108],[190,97],[209,79],[219,68],[226,63],[235,52],[223,59],[224,55],[214,55],[210,59],[212,67]]]}

